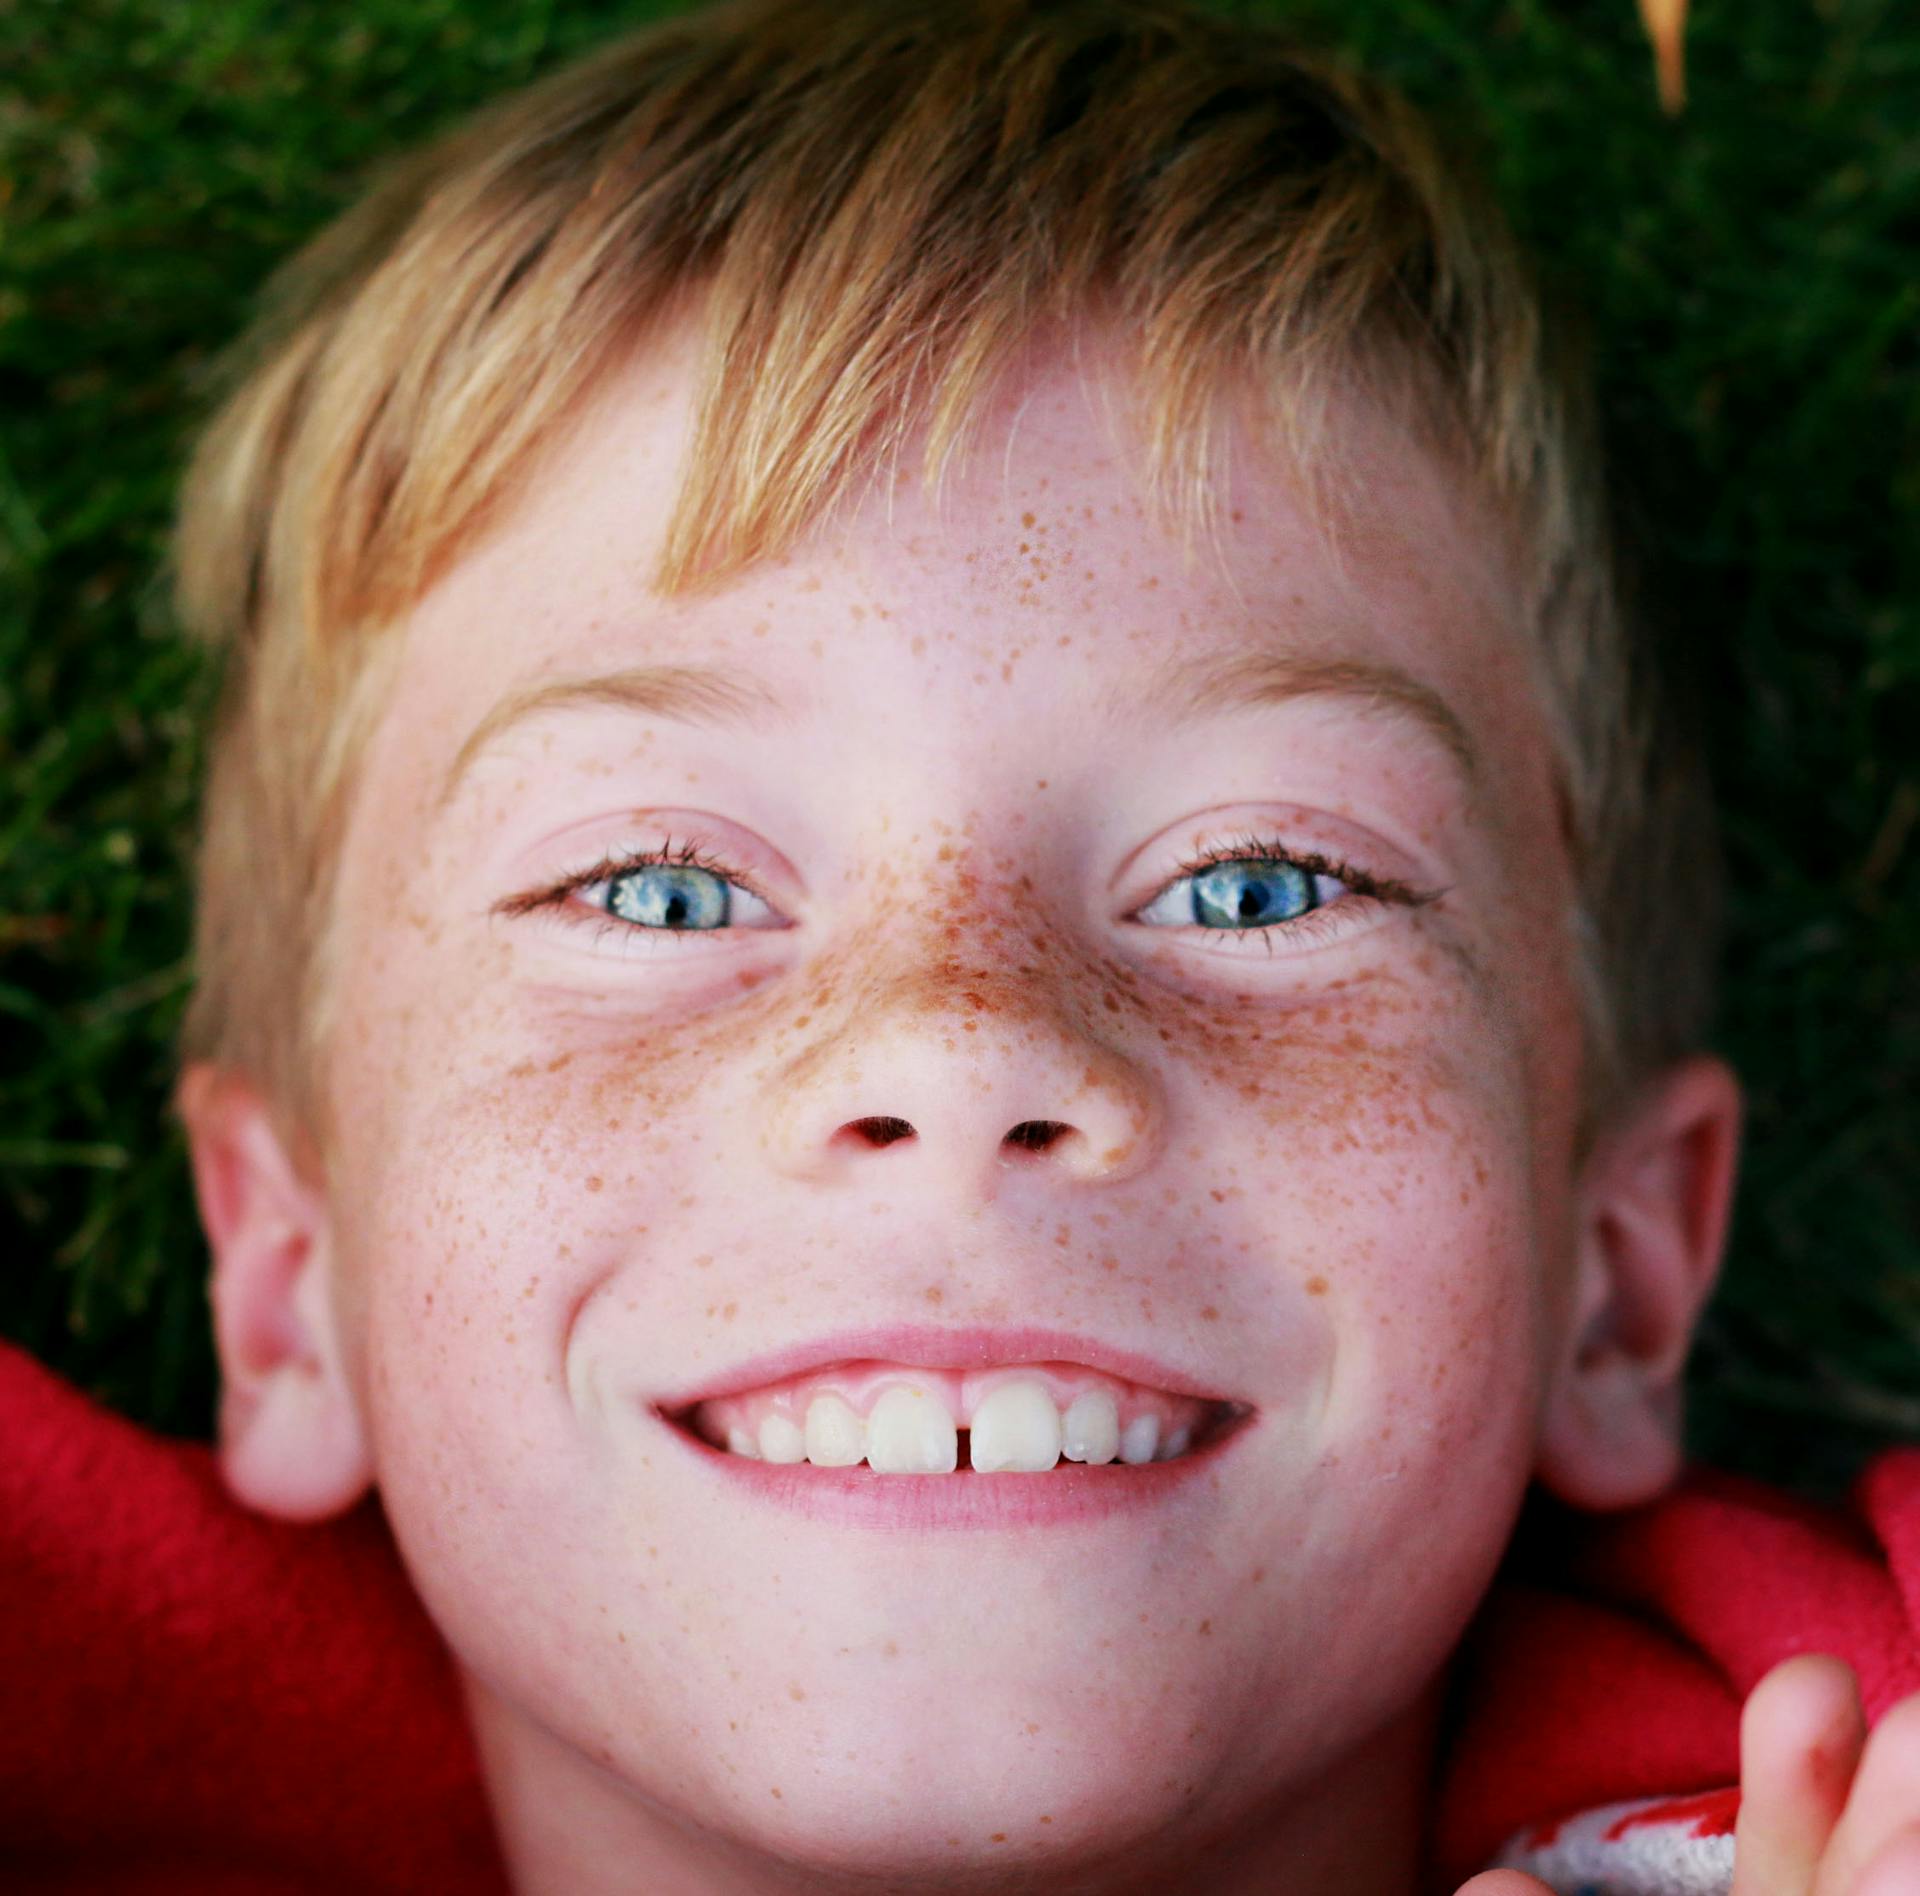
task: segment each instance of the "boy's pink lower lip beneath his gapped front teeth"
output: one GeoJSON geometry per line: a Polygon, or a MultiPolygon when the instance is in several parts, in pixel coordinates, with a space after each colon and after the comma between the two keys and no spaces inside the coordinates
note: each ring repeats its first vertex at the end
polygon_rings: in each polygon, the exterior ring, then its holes
{"type": "MultiPolygon", "coordinates": [[[[666,1418],[660,1416],[664,1422],[666,1418]]],[[[678,1422],[672,1437],[739,1491],[791,1514],[837,1528],[1054,1528],[1152,1508],[1194,1481],[1206,1481],[1248,1432],[1252,1414],[1235,1416],[1196,1449],[1169,1462],[1060,1462],[1039,1474],[874,1474],[866,1462],[816,1468],[812,1462],[758,1462],[701,1441],[678,1422]]]]}

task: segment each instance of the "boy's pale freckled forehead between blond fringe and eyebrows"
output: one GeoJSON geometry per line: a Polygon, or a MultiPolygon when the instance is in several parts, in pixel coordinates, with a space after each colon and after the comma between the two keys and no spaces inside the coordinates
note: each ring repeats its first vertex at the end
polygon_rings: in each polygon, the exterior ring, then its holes
{"type": "Polygon", "coordinates": [[[1212,532],[1187,541],[1144,489],[1117,355],[1031,359],[939,493],[908,445],[899,478],[876,472],[785,555],[662,597],[697,351],[685,328],[612,374],[413,614],[386,739],[436,752],[442,794],[526,720],[653,710],[793,731],[902,691],[964,702],[975,729],[1344,699],[1382,729],[1398,718],[1475,796],[1538,762],[1503,535],[1354,393],[1334,397],[1309,480],[1229,420],[1212,532]],[[662,666],[708,675],[668,704],[662,666]]]}

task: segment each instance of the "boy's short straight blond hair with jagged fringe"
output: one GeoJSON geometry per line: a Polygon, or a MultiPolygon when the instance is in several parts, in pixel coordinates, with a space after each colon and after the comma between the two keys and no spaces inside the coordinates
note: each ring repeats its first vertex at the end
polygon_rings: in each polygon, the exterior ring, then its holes
{"type": "Polygon", "coordinates": [[[1150,487],[1188,530],[1225,397],[1258,391],[1298,447],[1329,380],[1365,370],[1511,522],[1580,890],[1590,1117],[1697,1044],[1709,812],[1619,606],[1582,384],[1413,111],[1175,0],[745,0],[478,113],[269,286],[177,535],[180,614],[230,666],[190,1059],[311,1125],[382,631],[695,296],[662,593],[787,549],[908,439],[937,486],[1054,322],[1098,311],[1137,347],[1150,487]]]}

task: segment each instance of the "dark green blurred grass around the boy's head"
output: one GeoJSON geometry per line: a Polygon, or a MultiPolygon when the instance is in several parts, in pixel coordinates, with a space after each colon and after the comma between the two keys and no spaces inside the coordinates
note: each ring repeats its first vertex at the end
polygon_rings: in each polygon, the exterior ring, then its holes
{"type": "MultiPolygon", "coordinates": [[[[167,1113],[200,378],[369,161],[651,12],[0,0],[0,1336],[165,1432],[215,1395],[167,1113]]],[[[1920,13],[1707,4],[1668,119],[1630,0],[1248,12],[1453,127],[1590,330],[1732,873],[1751,1125],[1692,1445],[1836,1495],[1920,1441],[1920,13]]]]}

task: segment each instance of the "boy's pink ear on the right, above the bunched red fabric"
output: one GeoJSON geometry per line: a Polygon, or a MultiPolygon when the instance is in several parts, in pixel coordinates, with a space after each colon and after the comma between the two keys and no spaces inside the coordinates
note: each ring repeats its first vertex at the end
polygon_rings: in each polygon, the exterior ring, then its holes
{"type": "Polygon", "coordinates": [[[1701,1054],[1642,1088],[1580,1169],[1536,1466],[1572,1506],[1634,1506],[1680,1472],[1682,1372],[1720,1272],[1740,1117],[1740,1080],[1701,1054]]]}

